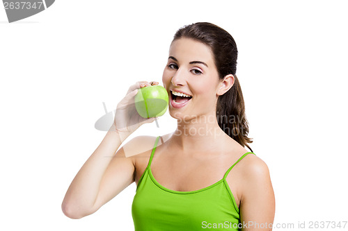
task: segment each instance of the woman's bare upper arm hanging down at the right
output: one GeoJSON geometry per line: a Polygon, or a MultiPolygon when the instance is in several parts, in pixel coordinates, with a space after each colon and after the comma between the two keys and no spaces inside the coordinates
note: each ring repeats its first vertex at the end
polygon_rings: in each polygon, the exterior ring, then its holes
{"type": "Polygon", "coordinates": [[[269,169],[259,157],[254,157],[244,169],[244,185],[240,215],[243,230],[271,230],[274,221],[275,198],[269,169]]]}

